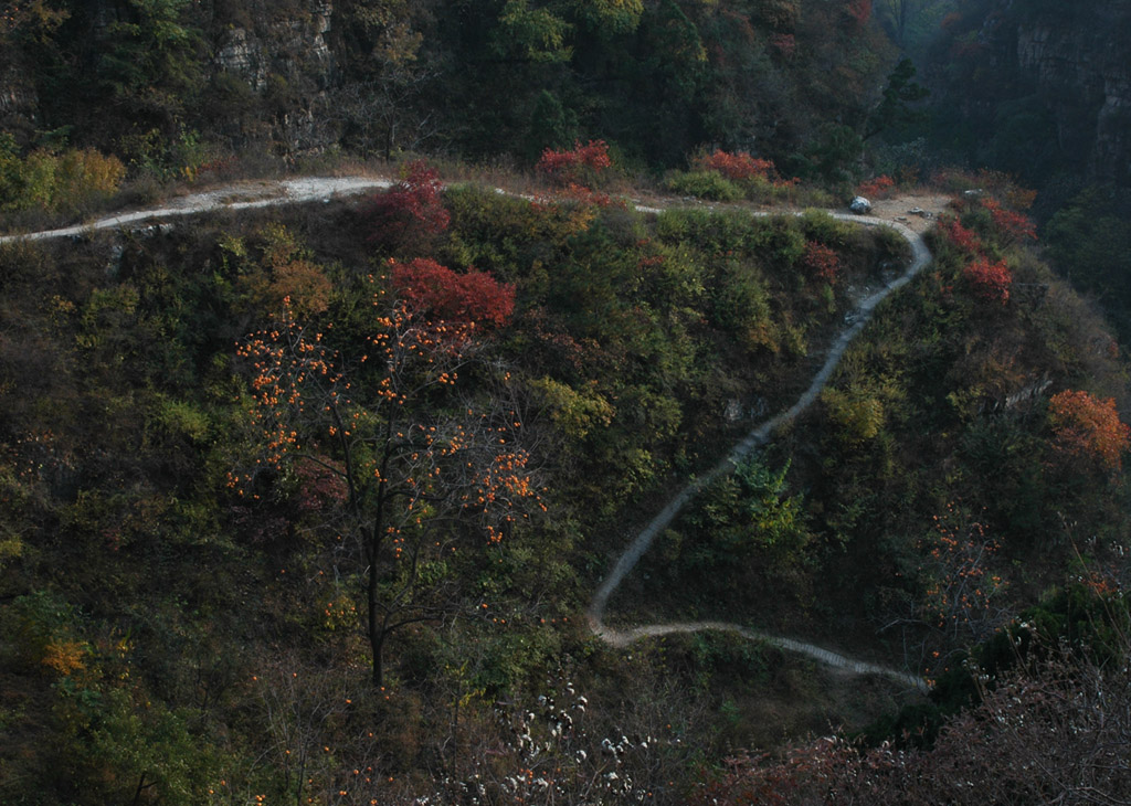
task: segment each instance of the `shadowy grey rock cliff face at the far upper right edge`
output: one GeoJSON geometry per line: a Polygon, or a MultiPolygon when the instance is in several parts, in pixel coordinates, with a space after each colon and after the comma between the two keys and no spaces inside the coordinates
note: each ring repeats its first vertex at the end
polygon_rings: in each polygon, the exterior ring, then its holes
{"type": "Polygon", "coordinates": [[[1088,149],[1089,172],[1131,184],[1131,6],[1081,2],[1077,12],[1017,24],[1017,62],[1051,106],[1065,146],[1088,149]]]}

